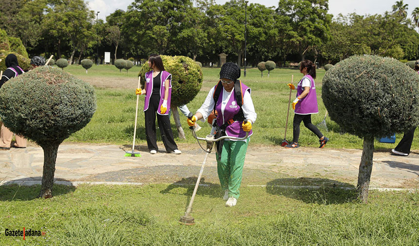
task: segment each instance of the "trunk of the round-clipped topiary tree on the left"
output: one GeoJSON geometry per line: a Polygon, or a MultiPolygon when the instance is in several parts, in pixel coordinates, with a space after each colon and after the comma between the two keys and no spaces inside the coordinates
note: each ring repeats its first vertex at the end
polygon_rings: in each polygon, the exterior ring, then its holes
{"type": "Polygon", "coordinates": [[[44,170],[42,173],[42,186],[39,197],[51,198],[54,184],[55,162],[57,160],[57,145],[42,146],[44,150],[44,170]]]}

